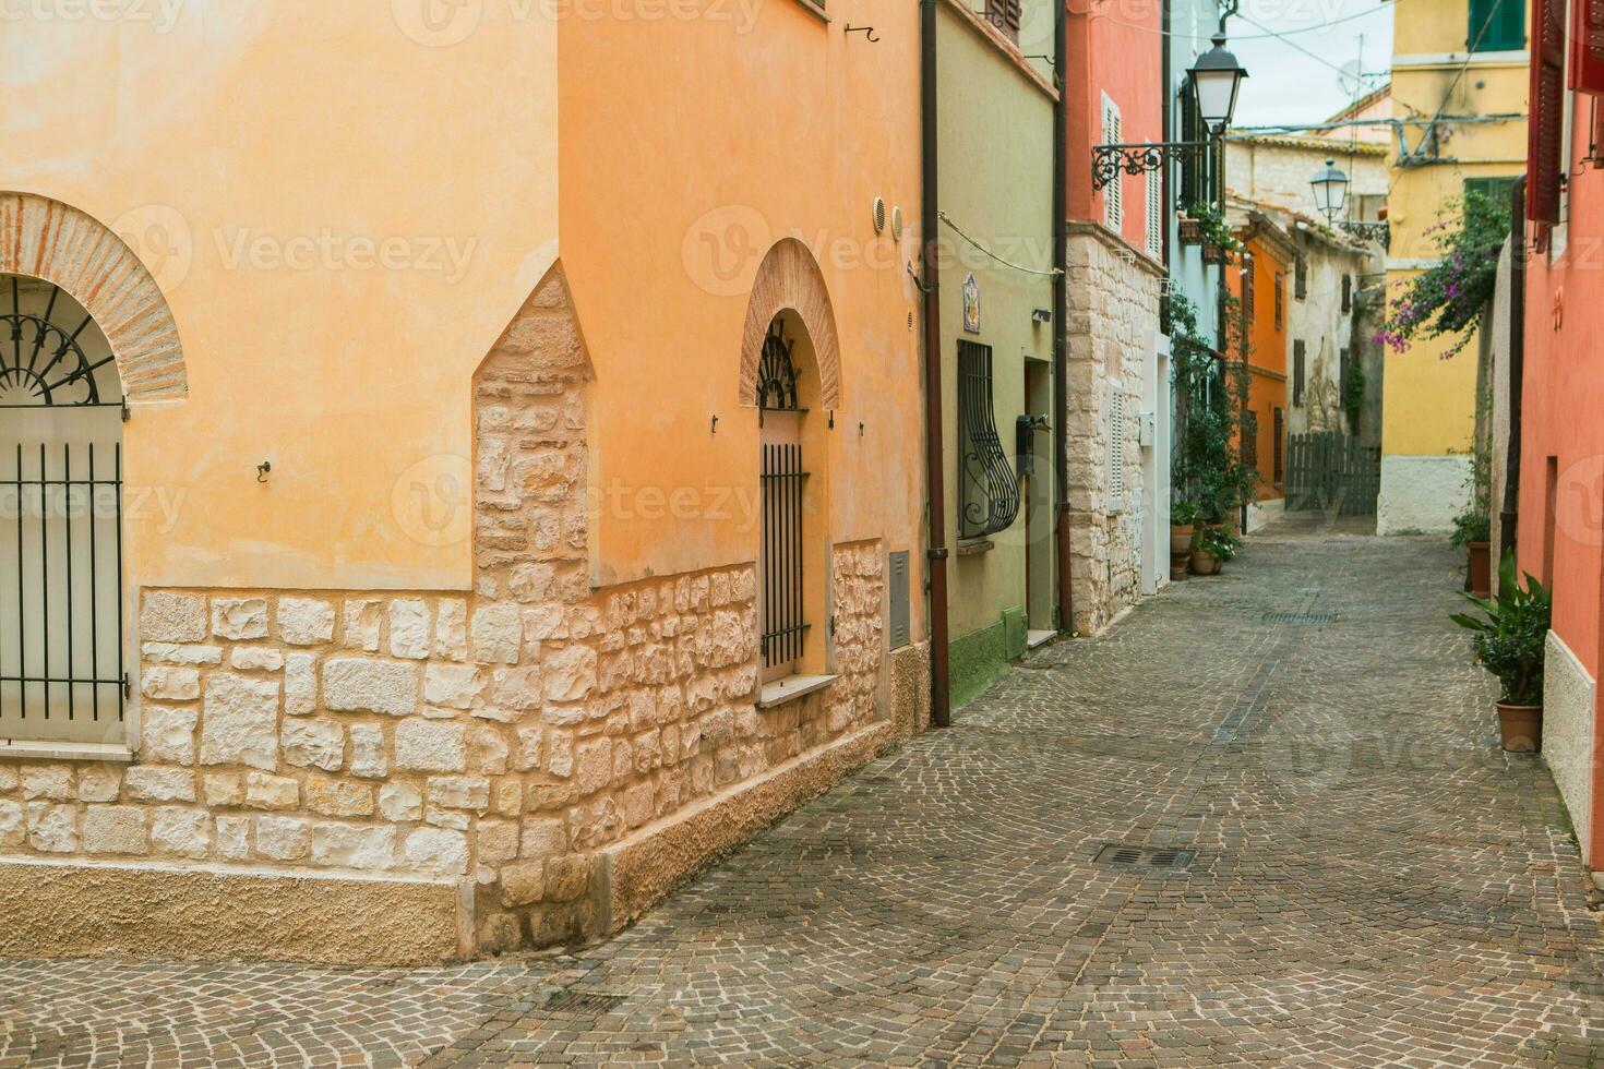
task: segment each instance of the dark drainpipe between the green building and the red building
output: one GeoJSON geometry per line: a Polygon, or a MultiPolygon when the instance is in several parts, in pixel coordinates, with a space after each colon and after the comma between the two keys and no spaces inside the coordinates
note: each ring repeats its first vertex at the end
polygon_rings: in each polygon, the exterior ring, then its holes
{"type": "Polygon", "coordinates": [[[1059,556],[1059,630],[1075,630],[1075,590],[1070,572],[1070,444],[1067,415],[1070,410],[1070,240],[1068,226],[1068,0],[1055,0],[1052,80],[1059,101],[1052,107],[1052,484],[1057,487],[1057,556],[1059,556]]]}

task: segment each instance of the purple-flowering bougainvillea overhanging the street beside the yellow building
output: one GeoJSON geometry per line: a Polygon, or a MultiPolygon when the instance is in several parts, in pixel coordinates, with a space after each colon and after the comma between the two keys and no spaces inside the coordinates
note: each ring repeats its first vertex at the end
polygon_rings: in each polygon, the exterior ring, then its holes
{"type": "Polygon", "coordinates": [[[1376,341],[1404,353],[1421,338],[1452,337],[1442,359],[1471,343],[1498,279],[1498,252],[1509,236],[1509,210],[1476,189],[1450,200],[1426,231],[1442,260],[1410,279],[1387,305],[1376,341]]]}

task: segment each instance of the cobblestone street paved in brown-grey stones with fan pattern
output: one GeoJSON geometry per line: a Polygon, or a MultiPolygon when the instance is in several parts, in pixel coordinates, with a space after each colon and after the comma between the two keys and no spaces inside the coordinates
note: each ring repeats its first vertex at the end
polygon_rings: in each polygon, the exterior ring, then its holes
{"type": "Polygon", "coordinates": [[[1254,537],[577,955],[0,962],[0,1064],[1591,1066],[1604,915],[1455,566],[1254,537]]]}

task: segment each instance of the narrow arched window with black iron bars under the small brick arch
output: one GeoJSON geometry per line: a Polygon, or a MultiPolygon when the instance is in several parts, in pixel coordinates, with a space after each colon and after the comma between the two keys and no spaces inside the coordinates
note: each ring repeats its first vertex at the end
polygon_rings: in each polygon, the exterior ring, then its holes
{"type": "Polygon", "coordinates": [[[802,407],[797,404],[797,373],[791,356],[794,346],[796,341],[784,338],[781,322],[775,319],[759,362],[759,479],[764,498],[760,649],[765,678],[794,670],[808,630],[802,587],[802,511],[808,473],[802,465],[802,407]]]}

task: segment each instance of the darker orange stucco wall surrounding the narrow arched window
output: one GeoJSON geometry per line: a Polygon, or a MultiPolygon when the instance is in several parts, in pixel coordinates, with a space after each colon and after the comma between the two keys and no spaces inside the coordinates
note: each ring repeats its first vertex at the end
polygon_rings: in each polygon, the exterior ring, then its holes
{"type": "Polygon", "coordinates": [[[560,26],[561,256],[595,372],[595,582],[757,556],[757,410],[738,370],[747,292],[781,237],[812,250],[840,338],[829,537],[916,548],[917,8],[858,6],[832,5],[831,22],[783,0],[749,26],[560,26]],[[858,14],[879,43],[842,34],[858,14]],[[876,197],[901,208],[901,242],[874,232],[876,197]],[[683,508],[659,505],[675,494],[683,508]]]}

